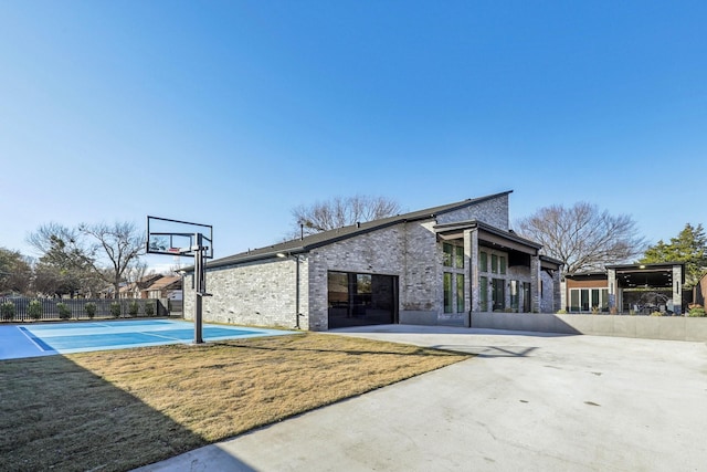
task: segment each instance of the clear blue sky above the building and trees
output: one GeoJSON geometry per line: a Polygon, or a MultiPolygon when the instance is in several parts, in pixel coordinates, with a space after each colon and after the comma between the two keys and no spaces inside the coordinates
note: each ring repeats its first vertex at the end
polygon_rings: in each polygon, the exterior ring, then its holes
{"type": "Polygon", "coordinates": [[[705,1],[0,0],[0,247],[151,214],[225,256],[334,196],[505,190],[511,220],[589,201],[668,240],[707,223],[706,24],[705,1]]]}

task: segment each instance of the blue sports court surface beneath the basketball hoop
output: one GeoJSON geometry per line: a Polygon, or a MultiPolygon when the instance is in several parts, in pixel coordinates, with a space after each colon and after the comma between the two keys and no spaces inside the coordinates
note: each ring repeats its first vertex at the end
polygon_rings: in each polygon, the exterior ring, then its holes
{"type": "MultiPolygon", "coordinates": [[[[209,324],[202,327],[202,338],[207,343],[294,333],[209,324]]],[[[193,339],[193,323],[173,319],[8,325],[0,326],[0,360],[163,344],[189,344],[193,339]]]]}

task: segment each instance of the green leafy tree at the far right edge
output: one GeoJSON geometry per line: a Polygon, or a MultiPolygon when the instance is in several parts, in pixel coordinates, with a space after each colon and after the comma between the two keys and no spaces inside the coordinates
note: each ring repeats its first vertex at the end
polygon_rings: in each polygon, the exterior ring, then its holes
{"type": "Polygon", "coordinates": [[[664,262],[682,262],[685,264],[685,286],[693,287],[707,271],[707,235],[701,224],[685,224],[676,238],[669,243],[663,240],[648,247],[639,262],[656,264],[664,262]]]}

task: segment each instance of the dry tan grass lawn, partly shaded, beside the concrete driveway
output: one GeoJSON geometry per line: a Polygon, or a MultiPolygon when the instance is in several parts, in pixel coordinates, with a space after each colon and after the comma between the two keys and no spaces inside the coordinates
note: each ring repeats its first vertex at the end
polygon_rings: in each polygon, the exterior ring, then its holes
{"type": "Polygon", "coordinates": [[[303,333],[0,361],[0,469],[124,471],[468,358],[303,333]]]}

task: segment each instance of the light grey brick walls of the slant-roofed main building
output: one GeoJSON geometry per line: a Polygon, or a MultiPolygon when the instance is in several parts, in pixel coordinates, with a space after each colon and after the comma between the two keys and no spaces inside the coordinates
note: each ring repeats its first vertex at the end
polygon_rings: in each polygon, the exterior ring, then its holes
{"type": "MultiPolygon", "coordinates": [[[[294,258],[270,259],[208,270],[207,289],[215,296],[204,297],[203,321],[292,328],[296,324],[295,263],[299,263],[299,313],[304,329],[328,327],[329,271],[397,276],[400,322],[436,324],[449,315],[443,313],[442,244],[433,228],[469,220],[508,230],[508,195],[333,242],[299,255],[299,262],[294,258]]],[[[475,254],[465,255],[465,264],[476,264],[475,254]]],[[[474,265],[466,266],[467,279],[468,266],[474,265]]],[[[525,272],[509,271],[505,277],[531,280],[527,268],[525,272]]],[[[468,289],[469,282],[466,284],[468,289]]],[[[186,277],[184,286],[191,286],[190,277],[186,277]]],[[[186,290],[186,317],[193,317],[193,306],[194,294],[186,290]]],[[[465,306],[471,308],[469,300],[465,306]]],[[[467,317],[455,315],[460,319],[467,317]]]]}

